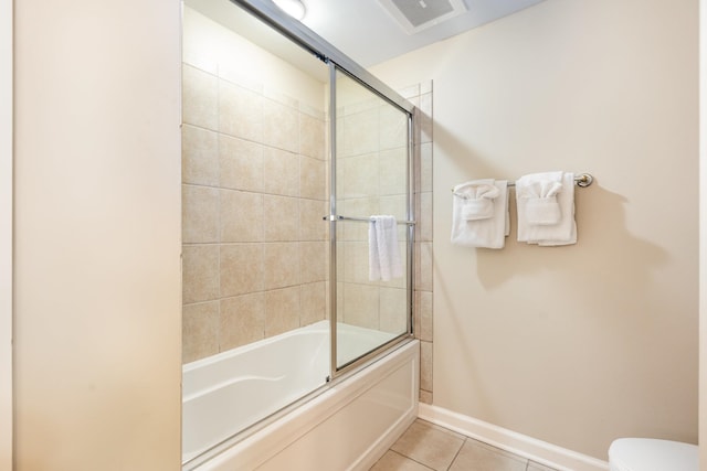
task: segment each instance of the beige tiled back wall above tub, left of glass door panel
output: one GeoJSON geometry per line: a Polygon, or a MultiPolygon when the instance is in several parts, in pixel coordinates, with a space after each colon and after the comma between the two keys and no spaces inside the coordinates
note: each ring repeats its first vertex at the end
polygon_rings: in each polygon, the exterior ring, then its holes
{"type": "Polygon", "coordinates": [[[219,69],[183,64],[183,362],[326,317],[324,115],[219,69]]]}

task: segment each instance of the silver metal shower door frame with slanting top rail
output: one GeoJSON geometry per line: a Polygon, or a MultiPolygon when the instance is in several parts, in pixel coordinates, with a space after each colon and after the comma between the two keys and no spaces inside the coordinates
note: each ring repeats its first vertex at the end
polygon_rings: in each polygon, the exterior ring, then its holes
{"type": "Polygon", "coordinates": [[[330,191],[329,191],[329,215],[324,216],[324,221],[329,222],[329,237],[330,237],[330,261],[329,261],[329,320],[330,320],[330,375],[327,378],[328,382],[340,377],[341,375],[351,372],[363,364],[368,363],[372,357],[380,354],[382,351],[388,350],[395,343],[400,343],[404,340],[412,339],[414,336],[414,322],[412,314],[412,303],[414,293],[414,136],[415,136],[415,107],[405,98],[400,96],[395,90],[388,85],[379,81],[376,76],[369,73],[366,68],[354,62],[350,57],[344,54],[341,51],[333,46],[326,40],[314,33],[308,28],[304,26],[300,22],[294,20],[285,12],[279,10],[273,2],[267,0],[230,0],[236,6],[243,8],[255,18],[263,21],[265,24],[278,31],[284,36],[288,38],[294,43],[298,44],[306,51],[309,51],[313,55],[325,62],[329,67],[329,126],[330,126],[330,139],[329,139],[329,165],[330,165],[330,191]],[[390,105],[404,113],[408,117],[408,245],[407,245],[407,332],[395,336],[391,341],[379,345],[371,352],[360,356],[354,362],[337,366],[337,349],[336,349],[336,321],[337,321],[337,282],[336,282],[336,72],[344,72],[349,77],[354,78],[361,86],[369,89],[380,98],[388,101],[390,105]]]}

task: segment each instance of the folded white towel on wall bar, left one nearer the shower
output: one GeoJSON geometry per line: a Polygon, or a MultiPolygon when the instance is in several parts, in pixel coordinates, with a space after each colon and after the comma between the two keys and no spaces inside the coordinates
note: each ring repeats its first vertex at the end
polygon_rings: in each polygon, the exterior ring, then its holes
{"type": "Polygon", "coordinates": [[[504,248],[509,234],[508,182],[473,180],[454,186],[452,243],[504,248]]]}

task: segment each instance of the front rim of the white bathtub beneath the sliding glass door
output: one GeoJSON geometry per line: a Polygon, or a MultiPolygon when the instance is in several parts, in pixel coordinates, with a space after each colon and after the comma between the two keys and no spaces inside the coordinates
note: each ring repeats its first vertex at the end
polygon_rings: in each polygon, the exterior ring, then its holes
{"type": "MultiPolygon", "coordinates": [[[[402,358],[398,358],[401,356],[407,346],[411,346],[411,344],[418,342],[418,339],[414,339],[412,335],[401,335],[398,336],[381,347],[377,349],[373,352],[370,352],[367,355],[367,360],[358,363],[354,363],[345,372],[339,374],[335,378],[330,378],[329,382],[323,384],[320,387],[310,392],[309,394],[300,397],[299,399],[282,407],[281,409],[274,411],[262,420],[253,424],[252,426],[243,429],[242,431],[222,440],[218,445],[214,445],[207,451],[190,458],[181,463],[181,471],[199,471],[202,467],[208,465],[209,462],[213,460],[218,460],[220,457],[233,453],[235,449],[239,447],[247,447],[249,441],[254,441],[257,439],[257,433],[264,431],[265,429],[278,429],[282,427],[282,422],[286,422],[289,420],[296,420],[302,411],[312,405],[312,403],[324,395],[335,395],[337,389],[347,386],[349,379],[355,379],[355,376],[359,374],[366,374],[369,372],[370,374],[381,374],[377,370],[392,371],[397,363],[402,363],[402,358]],[[377,352],[377,353],[376,353],[377,352]],[[387,365],[383,360],[390,357],[392,361],[390,365],[387,365]],[[387,366],[387,367],[386,367],[387,366]],[[298,414],[299,413],[299,414],[298,414]],[[288,417],[289,416],[289,417],[288,417]],[[282,421],[282,422],[281,422],[282,421]]],[[[418,347],[419,349],[419,347],[418,347]]],[[[419,353],[418,353],[419,358],[419,353]]],[[[419,361],[419,360],[418,360],[419,361]]],[[[358,385],[351,386],[355,392],[367,390],[371,387],[371,385],[358,385]]],[[[418,379],[418,388],[419,388],[419,379],[418,379]]],[[[347,396],[352,396],[355,393],[348,392],[347,396]]],[[[346,397],[344,398],[331,398],[335,400],[335,405],[330,406],[331,408],[340,408],[341,404],[346,402],[346,397]]],[[[415,413],[416,416],[416,413],[415,413]]]]}

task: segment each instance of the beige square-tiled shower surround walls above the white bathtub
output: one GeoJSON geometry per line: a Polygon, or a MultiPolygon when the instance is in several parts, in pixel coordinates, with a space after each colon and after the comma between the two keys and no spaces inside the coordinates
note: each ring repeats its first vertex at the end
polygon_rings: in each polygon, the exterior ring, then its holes
{"type": "MultiPolygon", "coordinates": [[[[329,165],[326,85],[274,56],[255,62],[282,62],[275,65],[281,83],[305,83],[307,92],[300,97],[297,90],[258,79],[255,67],[244,72],[236,54],[215,56],[214,44],[196,40],[194,31],[208,30],[205,34],[219,41],[231,41],[229,46],[240,47],[236,43],[244,40],[189,8],[184,14],[182,360],[187,363],[327,318],[329,235],[323,216],[329,212],[329,165]]],[[[256,47],[246,47],[253,57],[256,47]]],[[[403,95],[424,115],[415,149],[420,224],[414,309],[415,333],[423,345],[421,399],[430,402],[431,84],[409,87],[403,95]]],[[[404,119],[400,126],[400,115],[382,101],[371,107],[370,101],[354,98],[340,105],[338,213],[405,218],[404,178],[398,176],[405,174],[404,119]]],[[[367,226],[338,224],[339,317],[347,323],[399,332],[404,328],[400,315],[404,279],[367,279],[367,226]]],[[[404,240],[403,226],[400,235],[404,240]]],[[[404,254],[404,243],[401,249],[404,254]]]]}

